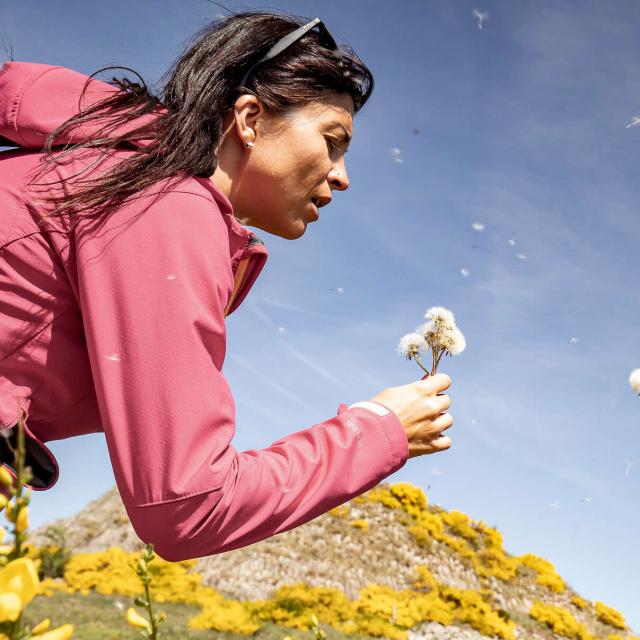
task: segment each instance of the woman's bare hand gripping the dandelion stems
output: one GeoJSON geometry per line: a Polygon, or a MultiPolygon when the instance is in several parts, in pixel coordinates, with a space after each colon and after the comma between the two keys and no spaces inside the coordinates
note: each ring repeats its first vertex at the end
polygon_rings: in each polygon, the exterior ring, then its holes
{"type": "Polygon", "coordinates": [[[388,387],[370,399],[398,416],[409,441],[409,458],[451,447],[451,440],[442,435],[453,424],[451,415],[445,413],[451,398],[441,393],[450,385],[451,378],[446,373],[427,374],[417,382],[388,387]]]}

